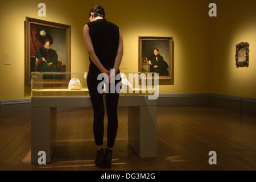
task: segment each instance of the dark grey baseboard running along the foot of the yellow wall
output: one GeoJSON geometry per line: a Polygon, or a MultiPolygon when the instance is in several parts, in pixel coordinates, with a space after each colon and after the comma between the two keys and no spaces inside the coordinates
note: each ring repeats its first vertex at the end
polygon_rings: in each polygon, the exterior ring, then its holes
{"type": "MultiPolygon", "coordinates": [[[[220,94],[159,94],[158,106],[216,106],[256,114],[256,98],[220,94]]],[[[74,108],[58,108],[72,110],[74,108]]],[[[76,108],[77,109],[77,108],[76,108]]],[[[31,114],[31,99],[0,101],[1,118],[31,114]]]]}

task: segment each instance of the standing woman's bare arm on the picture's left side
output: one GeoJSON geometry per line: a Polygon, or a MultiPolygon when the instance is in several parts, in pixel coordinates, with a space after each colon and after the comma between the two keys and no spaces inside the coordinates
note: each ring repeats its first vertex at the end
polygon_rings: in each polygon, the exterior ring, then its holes
{"type": "Polygon", "coordinates": [[[90,56],[90,59],[92,59],[93,63],[100,70],[100,72],[110,75],[110,71],[108,71],[107,69],[104,68],[104,66],[101,64],[100,60],[98,59],[96,53],[94,52],[92,39],[90,39],[89,27],[87,24],[85,24],[85,26],[84,26],[84,43],[85,43],[86,49],[88,51],[88,54],[90,56]]]}

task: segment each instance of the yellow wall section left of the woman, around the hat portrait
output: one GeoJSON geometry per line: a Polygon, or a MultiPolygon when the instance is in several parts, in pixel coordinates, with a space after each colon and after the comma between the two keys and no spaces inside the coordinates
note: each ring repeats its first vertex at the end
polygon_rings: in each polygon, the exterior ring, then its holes
{"type": "Polygon", "coordinates": [[[93,1],[1,1],[0,39],[0,100],[15,100],[31,97],[31,88],[25,80],[25,31],[26,16],[71,25],[71,68],[72,71],[86,71],[82,28],[88,22],[87,14],[93,1]],[[46,4],[46,17],[38,16],[39,3],[46,4]],[[3,64],[3,52],[11,53],[11,65],[3,64]]]}

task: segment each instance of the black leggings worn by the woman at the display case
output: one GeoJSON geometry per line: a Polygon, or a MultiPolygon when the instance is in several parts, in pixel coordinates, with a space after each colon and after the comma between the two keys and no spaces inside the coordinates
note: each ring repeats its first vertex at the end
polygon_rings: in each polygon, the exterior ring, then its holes
{"type": "MultiPolygon", "coordinates": [[[[91,64],[92,65],[92,64],[91,64]]],[[[89,89],[90,99],[92,101],[93,106],[93,133],[95,144],[97,146],[101,146],[103,144],[104,137],[104,93],[99,93],[97,90],[98,84],[102,82],[102,80],[97,80],[98,74],[100,72],[97,68],[94,68],[90,65],[88,77],[87,77],[87,85],[89,89]]],[[[119,72],[118,72],[119,73],[119,72]]],[[[119,81],[115,81],[115,85],[119,81]]],[[[110,85],[109,85],[110,88],[110,85]]],[[[119,93],[106,93],[106,113],[108,115],[108,129],[107,129],[107,137],[108,142],[107,146],[112,148],[114,146],[115,137],[117,135],[117,127],[118,127],[118,118],[117,118],[117,105],[118,105],[119,93]]]]}

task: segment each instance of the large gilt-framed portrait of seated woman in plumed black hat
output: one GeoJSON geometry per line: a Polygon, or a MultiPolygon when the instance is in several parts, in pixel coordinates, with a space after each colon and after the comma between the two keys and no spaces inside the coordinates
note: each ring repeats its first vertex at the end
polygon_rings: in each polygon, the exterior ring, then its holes
{"type": "Polygon", "coordinates": [[[65,84],[64,72],[71,71],[71,26],[26,17],[26,84],[31,72],[54,72],[44,75],[43,84],[65,84]]]}

